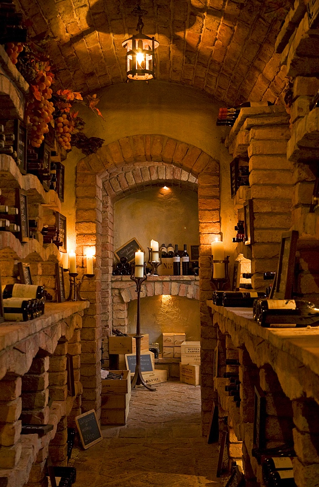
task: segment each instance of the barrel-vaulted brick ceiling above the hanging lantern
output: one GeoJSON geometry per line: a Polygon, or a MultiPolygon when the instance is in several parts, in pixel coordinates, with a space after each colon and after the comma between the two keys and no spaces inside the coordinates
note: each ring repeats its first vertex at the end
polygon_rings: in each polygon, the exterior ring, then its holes
{"type": "MultiPolygon", "coordinates": [[[[126,80],[122,42],[136,0],[14,0],[29,33],[47,33],[62,87],[83,94],[126,80]],[[31,22],[30,22],[31,21],[31,22]]],[[[286,83],[275,39],[291,0],[141,0],[143,33],[159,40],[157,78],[228,105],[276,101],[286,83]]],[[[278,102],[278,101],[277,101],[278,102]]]]}

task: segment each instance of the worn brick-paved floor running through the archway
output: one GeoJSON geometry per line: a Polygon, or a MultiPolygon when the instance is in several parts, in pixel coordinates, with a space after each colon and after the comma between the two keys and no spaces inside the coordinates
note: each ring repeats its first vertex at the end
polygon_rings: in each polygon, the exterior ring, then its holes
{"type": "Polygon", "coordinates": [[[218,445],[201,433],[200,386],[156,387],[134,389],[126,425],[102,427],[103,441],[78,451],[74,487],[225,485],[216,478],[218,445]]]}

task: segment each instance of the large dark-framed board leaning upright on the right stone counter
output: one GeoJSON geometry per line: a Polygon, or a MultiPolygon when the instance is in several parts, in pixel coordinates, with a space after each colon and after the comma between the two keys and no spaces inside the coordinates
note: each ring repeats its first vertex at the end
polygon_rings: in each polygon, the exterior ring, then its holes
{"type": "Polygon", "coordinates": [[[298,231],[291,230],[282,234],[278,268],[274,280],[271,298],[290,300],[292,297],[298,231]]]}

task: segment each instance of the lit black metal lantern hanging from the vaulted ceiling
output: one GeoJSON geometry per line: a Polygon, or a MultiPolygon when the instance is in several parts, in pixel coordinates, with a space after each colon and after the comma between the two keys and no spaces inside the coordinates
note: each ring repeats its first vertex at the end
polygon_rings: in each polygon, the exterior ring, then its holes
{"type": "Polygon", "coordinates": [[[135,36],[124,40],[123,47],[126,47],[126,74],[129,79],[149,80],[155,77],[155,49],[159,47],[159,42],[154,37],[142,34],[142,16],[147,14],[146,10],[141,10],[140,5],[132,12],[139,17],[136,30],[139,31],[135,36]]]}

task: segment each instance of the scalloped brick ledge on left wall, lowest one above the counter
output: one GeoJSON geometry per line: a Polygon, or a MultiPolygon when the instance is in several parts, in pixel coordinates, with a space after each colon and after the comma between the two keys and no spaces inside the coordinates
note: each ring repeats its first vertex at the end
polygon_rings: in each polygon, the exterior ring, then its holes
{"type": "Polygon", "coordinates": [[[56,245],[42,246],[37,240],[21,243],[13,233],[0,232],[0,258],[17,259],[20,261],[48,261],[60,260],[60,252],[56,245]]]}

